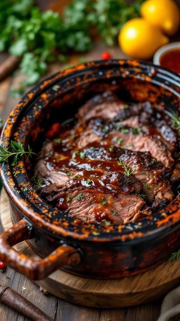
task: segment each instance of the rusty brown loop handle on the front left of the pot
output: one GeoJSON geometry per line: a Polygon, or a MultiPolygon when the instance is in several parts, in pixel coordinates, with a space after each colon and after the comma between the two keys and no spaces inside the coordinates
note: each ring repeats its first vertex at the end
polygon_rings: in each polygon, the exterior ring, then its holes
{"type": "Polygon", "coordinates": [[[34,237],[33,227],[21,221],[0,235],[0,260],[31,280],[41,280],[63,265],[78,265],[81,260],[78,249],[61,245],[49,256],[36,261],[16,251],[13,245],[34,237]]]}

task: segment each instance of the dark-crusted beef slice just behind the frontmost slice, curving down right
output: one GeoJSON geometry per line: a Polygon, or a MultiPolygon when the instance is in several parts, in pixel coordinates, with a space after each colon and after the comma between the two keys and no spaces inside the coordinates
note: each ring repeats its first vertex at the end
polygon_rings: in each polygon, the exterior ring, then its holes
{"type": "Polygon", "coordinates": [[[117,147],[111,150],[105,147],[85,148],[83,152],[91,161],[103,161],[104,167],[109,164],[111,169],[114,167],[116,170],[122,170],[125,164],[126,167],[133,169],[133,176],[143,184],[142,193],[147,195],[150,203],[157,198],[166,204],[172,200],[174,196],[170,184],[172,170],[163,167],[151,157],[150,152],[132,152],[117,147]]]}

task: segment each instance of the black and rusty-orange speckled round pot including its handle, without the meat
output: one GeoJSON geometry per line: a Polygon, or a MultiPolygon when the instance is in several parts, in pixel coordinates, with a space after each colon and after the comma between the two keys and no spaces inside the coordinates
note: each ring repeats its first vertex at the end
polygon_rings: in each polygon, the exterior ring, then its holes
{"type": "MultiPolygon", "coordinates": [[[[72,117],[88,98],[106,90],[122,100],[164,102],[175,112],[180,76],[149,63],[96,61],[57,73],[33,88],[14,108],[1,135],[38,152],[50,124],[72,117]]],[[[100,226],[64,217],[37,195],[29,177],[35,160],[16,166],[1,163],[3,185],[15,224],[0,236],[0,260],[31,279],[42,279],[59,267],[78,275],[120,278],[144,272],[180,247],[179,198],[150,218],[126,225],[100,226]],[[28,240],[41,261],[16,252],[12,245],[28,240]]]]}

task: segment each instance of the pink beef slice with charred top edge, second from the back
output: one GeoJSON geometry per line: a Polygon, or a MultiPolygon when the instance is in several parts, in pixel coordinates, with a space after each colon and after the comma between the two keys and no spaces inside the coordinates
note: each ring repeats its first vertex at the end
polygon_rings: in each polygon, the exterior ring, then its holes
{"type": "Polygon", "coordinates": [[[162,162],[163,165],[170,167],[174,165],[171,152],[159,139],[143,132],[134,134],[132,128],[118,128],[119,130],[117,128],[114,124],[104,125],[100,120],[90,122],[78,139],[78,148],[95,143],[103,146],[117,146],[131,151],[151,152],[152,157],[162,162]]]}

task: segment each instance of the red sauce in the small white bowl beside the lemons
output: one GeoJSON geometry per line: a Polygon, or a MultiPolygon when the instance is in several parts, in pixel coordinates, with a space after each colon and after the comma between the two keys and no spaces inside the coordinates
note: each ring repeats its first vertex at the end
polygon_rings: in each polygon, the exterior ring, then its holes
{"type": "Polygon", "coordinates": [[[180,48],[169,50],[162,55],[160,65],[180,74],[180,48]]]}

